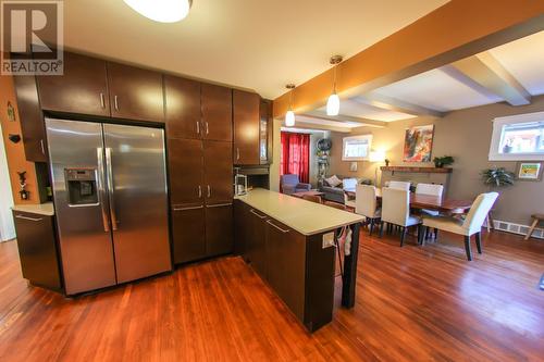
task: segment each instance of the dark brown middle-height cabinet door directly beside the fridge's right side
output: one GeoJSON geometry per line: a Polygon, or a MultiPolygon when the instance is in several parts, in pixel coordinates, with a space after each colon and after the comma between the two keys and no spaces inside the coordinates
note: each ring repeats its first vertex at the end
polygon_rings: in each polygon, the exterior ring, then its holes
{"type": "Polygon", "coordinates": [[[202,204],[202,141],[171,138],[168,152],[170,202],[173,205],[202,204]]]}

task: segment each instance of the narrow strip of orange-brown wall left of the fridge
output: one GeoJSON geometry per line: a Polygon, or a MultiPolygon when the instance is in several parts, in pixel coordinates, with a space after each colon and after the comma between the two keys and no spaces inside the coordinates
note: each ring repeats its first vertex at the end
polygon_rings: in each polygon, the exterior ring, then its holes
{"type": "Polygon", "coordinates": [[[13,78],[11,76],[0,76],[0,123],[2,125],[2,137],[5,145],[8,167],[10,168],[13,201],[15,203],[39,203],[35,165],[33,162],[26,161],[23,141],[13,143],[8,139],[9,134],[21,135],[17,102],[15,98],[15,89],[13,88],[13,78]],[[8,101],[15,108],[15,122],[8,121],[8,101]],[[30,191],[30,198],[26,201],[21,200],[18,195],[20,187],[17,172],[22,171],[26,171],[26,189],[30,191]]]}

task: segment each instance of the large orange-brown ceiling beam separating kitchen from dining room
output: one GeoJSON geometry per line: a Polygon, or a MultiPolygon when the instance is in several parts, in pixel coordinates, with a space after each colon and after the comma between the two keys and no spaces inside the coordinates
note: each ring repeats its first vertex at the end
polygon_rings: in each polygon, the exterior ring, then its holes
{"type": "MultiPolygon", "coordinates": [[[[544,1],[450,0],[397,33],[338,64],[342,98],[431,71],[506,42],[544,30],[544,1]],[[462,27],[462,32],[453,29],[462,27]]],[[[334,71],[293,90],[293,109],[305,113],[326,103],[334,71]]],[[[276,98],[274,117],[289,109],[289,95],[276,98]]]]}

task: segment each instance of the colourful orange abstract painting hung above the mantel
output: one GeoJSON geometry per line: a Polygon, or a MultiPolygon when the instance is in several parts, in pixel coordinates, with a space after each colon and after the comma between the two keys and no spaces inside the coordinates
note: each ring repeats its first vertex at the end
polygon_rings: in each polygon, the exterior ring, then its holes
{"type": "Polygon", "coordinates": [[[404,162],[431,162],[434,125],[406,129],[404,162]]]}

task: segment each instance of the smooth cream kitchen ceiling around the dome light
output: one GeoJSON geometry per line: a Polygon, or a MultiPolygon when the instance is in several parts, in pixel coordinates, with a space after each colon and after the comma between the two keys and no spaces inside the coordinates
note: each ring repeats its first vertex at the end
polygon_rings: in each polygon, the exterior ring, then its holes
{"type": "Polygon", "coordinates": [[[122,0],[64,1],[72,50],[254,89],[285,92],[447,0],[194,0],[184,21],[152,22],[122,0]]]}

